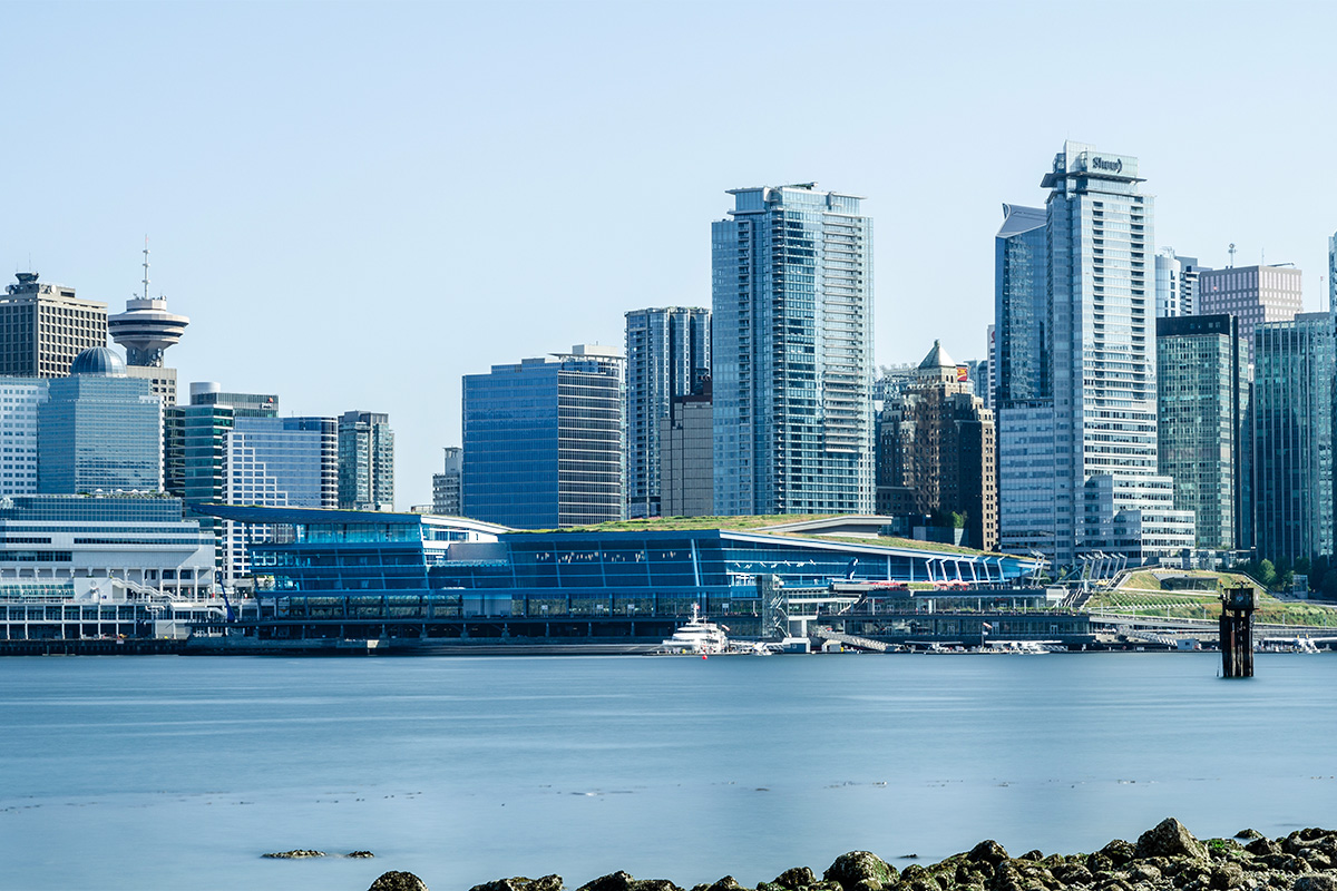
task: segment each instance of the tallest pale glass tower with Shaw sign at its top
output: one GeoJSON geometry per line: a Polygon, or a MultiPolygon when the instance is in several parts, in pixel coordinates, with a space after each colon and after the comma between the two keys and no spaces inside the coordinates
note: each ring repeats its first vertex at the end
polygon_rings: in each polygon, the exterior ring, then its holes
{"type": "MultiPolygon", "coordinates": [[[[1193,514],[1174,509],[1157,470],[1152,202],[1138,160],[1067,142],[1046,203],[1048,387],[1035,399],[999,377],[1005,550],[1134,562],[1193,546],[1193,514]],[[1008,398],[1004,398],[1008,397],[1008,398]]],[[[1003,354],[1011,347],[1000,343],[1003,354]]]]}

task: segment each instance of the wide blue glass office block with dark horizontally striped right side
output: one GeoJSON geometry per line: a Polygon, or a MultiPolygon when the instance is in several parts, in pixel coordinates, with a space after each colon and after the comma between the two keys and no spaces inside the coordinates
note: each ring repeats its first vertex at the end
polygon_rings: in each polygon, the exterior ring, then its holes
{"type": "Polygon", "coordinates": [[[623,517],[623,358],[614,347],[464,377],[464,513],[515,529],[623,517]]]}

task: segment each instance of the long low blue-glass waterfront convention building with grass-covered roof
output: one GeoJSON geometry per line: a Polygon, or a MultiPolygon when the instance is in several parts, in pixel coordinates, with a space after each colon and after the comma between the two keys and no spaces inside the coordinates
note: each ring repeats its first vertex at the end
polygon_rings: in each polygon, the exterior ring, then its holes
{"type": "MultiPolygon", "coordinates": [[[[775,517],[774,525],[747,530],[713,520],[695,529],[646,524],[634,532],[517,533],[421,514],[210,510],[290,529],[283,540],[254,548],[261,618],[249,631],[261,637],[658,640],[693,604],[725,617],[731,635],[779,636],[786,621],[801,621],[796,616],[816,620],[814,601],[850,605],[860,600],[852,589],[944,578],[995,588],[965,592],[976,600],[1036,600],[1035,590],[999,590],[1034,573],[1035,558],[872,544],[885,517],[775,517]]],[[[919,593],[951,598],[941,590],[919,593]]],[[[908,594],[906,588],[900,596],[908,594]]],[[[1043,592],[1039,601],[1046,601],[1043,592]]],[[[921,608],[910,605],[909,612],[921,608]]],[[[1044,616],[1032,633],[1052,636],[1050,622],[1060,620],[1044,616]]],[[[960,635],[968,620],[955,621],[960,635]]],[[[979,633],[979,620],[967,631],[979,633]]]]}

